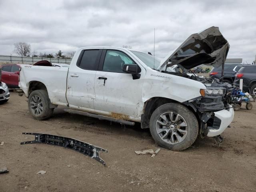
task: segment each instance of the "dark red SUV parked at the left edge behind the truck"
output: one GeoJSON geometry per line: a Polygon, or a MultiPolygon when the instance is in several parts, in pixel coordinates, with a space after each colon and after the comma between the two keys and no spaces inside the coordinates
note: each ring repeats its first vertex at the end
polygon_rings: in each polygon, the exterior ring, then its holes
{"type": "Polygon", "coordinates": [[[8,88],[18,88],[20,64],[4,64],[1,66],[2,78],[0,82],[7,84],[8,88]]]}

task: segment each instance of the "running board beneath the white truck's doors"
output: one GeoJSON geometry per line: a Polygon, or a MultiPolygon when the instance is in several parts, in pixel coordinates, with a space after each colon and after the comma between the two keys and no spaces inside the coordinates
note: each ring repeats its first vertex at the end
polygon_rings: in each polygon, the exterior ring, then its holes
{"type": "Polygon", "coordinates": [[[100,120],[109,120],[109,121],[117,122],[117,123],[120,123],[120,124],[126,124],[126,125],[132,125],[132,126],[135,125],[135,123],[132,122],[132,121],[116,119],[116,118],[113,118],[113,117],[98,115],[98,114],[94,114],[94,113],[88,113],[88,112],[74,110],[74,109],[64,109],[64,111],[69,112],[70,114],[84,115],[84,116],[88,116],[88,117],[98,118],[100,120]]]}

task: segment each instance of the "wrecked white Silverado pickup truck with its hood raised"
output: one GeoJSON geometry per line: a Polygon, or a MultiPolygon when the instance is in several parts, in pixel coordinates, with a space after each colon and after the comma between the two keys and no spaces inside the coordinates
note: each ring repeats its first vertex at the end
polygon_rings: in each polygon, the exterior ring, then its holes
{"type": "Polygon", "coordinates": [[[160,146],[184,150],[197,136],[219,136],[232,122],[228,84],[200,82],[186,71],[200,64],[220,66],[229,44],[218,27],[191,35],[162,62],[151,54],[120,47],[80,48],[69,68],[26,66],[19,86],[38,120],[58,105],[74,114],[122,124],[140,122],[160,146]],[[166,69],[169,70],[166,70],[166,69]]]}

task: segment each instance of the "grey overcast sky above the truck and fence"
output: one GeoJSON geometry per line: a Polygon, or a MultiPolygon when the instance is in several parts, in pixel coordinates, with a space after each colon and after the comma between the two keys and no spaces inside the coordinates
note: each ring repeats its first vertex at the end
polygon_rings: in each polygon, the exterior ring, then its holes
{"type": "Polygon", "coordinates": [[[255,0],[0,0],[0,54],[27,42],[32,52],[83,46],[132,46],[164,58],[190,34],[218,26],[228,58],[251,63],[256,54],[255,0]]]}

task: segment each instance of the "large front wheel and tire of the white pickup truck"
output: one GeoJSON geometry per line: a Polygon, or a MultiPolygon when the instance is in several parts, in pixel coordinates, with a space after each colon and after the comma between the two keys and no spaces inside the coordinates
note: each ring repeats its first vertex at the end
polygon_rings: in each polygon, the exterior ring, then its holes
{"type": "Polygon", "coordinates": [[[158,107],[150,118],[150,133],[159,146],[181,151],[190,147],[196,140],[198,120],[181,104],[164,104],[158,107]]]}

